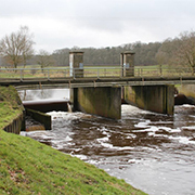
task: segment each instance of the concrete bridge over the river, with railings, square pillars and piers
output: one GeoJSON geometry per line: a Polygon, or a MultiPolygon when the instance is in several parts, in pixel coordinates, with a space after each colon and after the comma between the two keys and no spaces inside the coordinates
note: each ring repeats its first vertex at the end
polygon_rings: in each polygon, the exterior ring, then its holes
{"type": "Polygon", "coordinates": [[[0,68],[0,84],[17,89],[69,88],[75,110],[121,117],[121,96],[140,108],[173,114],[174,84],[195,83],[192,68],[135,67],[134,53],[120,65],[84,66],[83,52],[70,52],[69,67],[0,68]]]}

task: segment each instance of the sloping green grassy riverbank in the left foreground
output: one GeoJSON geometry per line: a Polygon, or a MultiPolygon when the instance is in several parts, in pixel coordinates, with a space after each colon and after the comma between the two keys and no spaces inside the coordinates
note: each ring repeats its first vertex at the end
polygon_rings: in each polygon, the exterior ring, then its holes
{"type": "MultiPolygon", "coordinates": [[[[22,106],[11,94],[11,88],[0,90],[4,91],[3,95],[0,93],[0,129],[3,129],[21,114],[22,106]]],[[[123,180],[30,138],[0,130],[0,148],[2,195],[145,194],[123,180]]]]}

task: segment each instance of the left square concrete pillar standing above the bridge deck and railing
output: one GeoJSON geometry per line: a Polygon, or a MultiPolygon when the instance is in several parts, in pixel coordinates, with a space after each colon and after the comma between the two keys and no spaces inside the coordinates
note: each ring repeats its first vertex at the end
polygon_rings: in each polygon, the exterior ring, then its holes
{"type": "Polygon", "coordinates": [[[83,77],[83,52],[69,52],[69,76],[74,78],[83,77]]]}

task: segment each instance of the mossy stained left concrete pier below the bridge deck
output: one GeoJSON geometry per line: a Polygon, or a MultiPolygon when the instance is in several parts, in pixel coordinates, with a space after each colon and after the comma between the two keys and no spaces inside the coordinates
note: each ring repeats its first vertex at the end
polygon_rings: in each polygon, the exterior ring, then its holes
{"type": "Polygon", "coordinates": [[[112,119],[121,118],[121,88],[72,89],[70,101],[74,110],[112,119]]]}

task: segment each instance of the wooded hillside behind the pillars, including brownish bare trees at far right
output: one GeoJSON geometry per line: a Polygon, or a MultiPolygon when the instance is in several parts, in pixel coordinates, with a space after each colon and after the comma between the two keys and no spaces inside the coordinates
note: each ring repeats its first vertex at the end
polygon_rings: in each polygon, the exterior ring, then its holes
{"type": "Polygon", "coordinates": [[[120,53],[133,51],[135,66],[169,65],[195,67],[195,31],[185,31],[178,37],[162,42],[142,43],[136,41],[119,47],[62,49],[53,52],[56,65],[68,65],[69,51],[84,52],[84,64],[115,65],[120,64],[120,53]]]}

